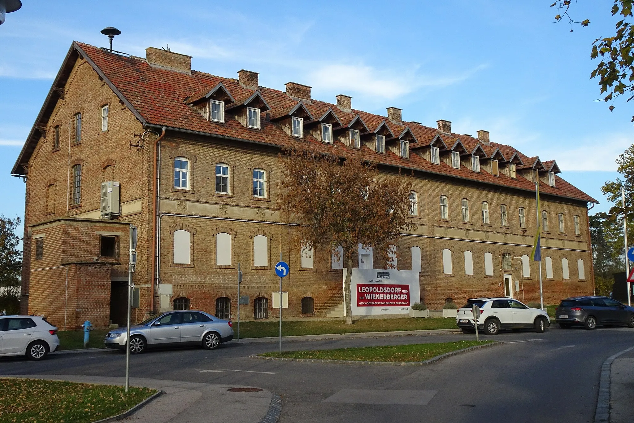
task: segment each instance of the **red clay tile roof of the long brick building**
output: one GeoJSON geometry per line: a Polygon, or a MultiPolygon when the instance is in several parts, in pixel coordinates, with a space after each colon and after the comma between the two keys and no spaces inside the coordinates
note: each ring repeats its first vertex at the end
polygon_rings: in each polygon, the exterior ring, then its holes
{"type": "MultiPolygon", "coordinates": [[[[248,98],[250,94],[254,93],[254,90],[241,86],[236,79],[218,77],[196,70],[192,70],[191,75],[188,75],[180,72],[172,72],[164,68],[150,67],[142,58],[109,53],[103,49],[80,42],[74,42],[71,51],[74,48],[77,49],[82,56],[86,57],[96,72],[99,72],[102,77],[105,77],[108,85],[115,90],[117,95],[122,97],[121,100],[131,108],[132,112],[143,124],[158,127],[164,126],[168,129],[194,131],[210,136],[251,141],[271,146],[279,146],[281,148],[297,146],[299,142],[302,142],[303,144],[308,143],[312,148],[318,151],[332,152],[340,155],[347,155],[356,150],[347,147],[337,140],[335,140],[332,145],[327,145],[320,140],[314,139],[309,134],[306,134],[302,141],[297,141],[293,137],[288,136],[288,134],[275,123],[267,119],[261,119],[261,129],[244,127],[235,119],[227,119],[224,123],[210,122],[195,110],[195,108],[190,107],[185,102],[186,99],[189,102],[192,98],[202,98],[219,82],[223,83],[224,88],[229,91],[233,98],[237,99],[236,101],[241,98],[248,98]]],[[[69,51],[66,61],[71,57],[70,54],[71,52],[69,51]]],[[[63,68],[68,68],[68,66],[63,65],[63,68]]],[[[56,82],[57,81],[58,79],[56,79],[56,82]]],[[[271,107],[270,119],[288,114],[288,112],[299,103],[297,100],[287,96],[283,91],[264,87],[259,88],[259,90],[262,98],[264,98],[269,107],[271,107]]],[[[460,140],[468,152],[472,152],[477,146],[480,146],[487,157],[489,157],[489,154],[495,152],[496,148],[500,150],[500,153],[507,160],[510,159],[514,153],[517,153],[517,157],[524,162],[524,166],[528,167],[532,166],[534,162],[536,162],[536,159],[538,159],[538,157],[529,159],[521,152],[517,152],[512,146],[493,142],[491,142],[490,145],[482,145],[482,143],[471,136],[439,133],[437,129],[422,126],[417,122],[403,122],[401,125],[398,125],[384,116],[355,109],[351,110],[351,112],[343,112],[336,105],[319,100],[311,100],[309,103],[302,101],[302,104],[313,116],[321,116],[328,108],[332,108],[333,114],[337,116],[344,126],[351,122],[356,115],[359,115],[365,125],[371,130],[376,130],[382,122],[385,122],[385,125],[392,134],[401,134],[408,127],[413,136],[418,140],[416,143],[410,143],[410,148],[429,145],[434,137],[440,134],[443,141],[448,143],[449,148],[455,144],[456,140],[460,140]]],[[[44,110],[44,108],[42,108],[42,110],[44,110]]],[[[38,117],[38,120],[39,119],[40,116],[38,117]]],[[[36,122],[36,125],[37,124],[38,122],[36,122]]],[[[37,142],[37,137],[29,138],[27,143],[32,140],[37,142]]],[[[22,153],[20,153],[20,157],[18,157],[13,173],[20,172],[20,169],[22,169],[20,166],[23,166],[22,163],[29,160],[30,152],[32,152],[32,146],[27,148],[25,145],[22,153]]],[[[498,186],[507,186],[519,190],[534,191],[534,183],[519,174],[515,179],[505,176],[501,172],[499,176],[494,176],[484,170],[481,172],[473,172],[466,167],[455,169],[443,161],[441,161],[440,164],[432,164],[417,154],[411,154],[409,158],[402,158],[389,150],[385,153],[374,152],[365,145],[361,147],[361,152],[367,160],[379,164],[401,167],[408,170],[411,169],[413,171],[429,172],[441,176],[469,179],[471,181],[479,181],[481,183],[498,186]]],[[[518,166],[518,168],[519,167],[520,166],[518,166]]],[[[22,169],[22,171],[25,171],[25,169],[22,169]]],[[[541,193],[586,202],[597,202],[597,200],[581,192],[581,190],[567,183],[564,179],[559,178],[559,176],[556,176],[556,180],[556,187],[543,185],[540,188],[541,193]]]]}

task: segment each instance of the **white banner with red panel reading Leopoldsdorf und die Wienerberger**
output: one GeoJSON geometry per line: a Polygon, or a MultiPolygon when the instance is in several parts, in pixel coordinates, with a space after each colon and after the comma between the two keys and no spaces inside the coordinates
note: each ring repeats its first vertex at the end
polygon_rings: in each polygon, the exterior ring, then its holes
{"type": "MultiPolygon", "coordinates": [[[[344,269],[344,281],[346,280],[344,269]]],[[[344,310],[346,309],[344,297],[344,310]]],[[[394,315],[410,312],[420,302],[418,272],[396,269],[353,269],[350,282],[353,316],[394,315]]]]}

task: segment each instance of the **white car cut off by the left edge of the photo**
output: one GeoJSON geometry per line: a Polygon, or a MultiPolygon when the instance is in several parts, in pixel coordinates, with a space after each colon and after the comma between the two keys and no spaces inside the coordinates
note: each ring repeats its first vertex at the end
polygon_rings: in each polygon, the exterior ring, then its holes
{"type": "Polygon", "coordinates": [[[0,316],[0,356],[44,360],[60,347],[57,328],[42,316],[0,316]]]}

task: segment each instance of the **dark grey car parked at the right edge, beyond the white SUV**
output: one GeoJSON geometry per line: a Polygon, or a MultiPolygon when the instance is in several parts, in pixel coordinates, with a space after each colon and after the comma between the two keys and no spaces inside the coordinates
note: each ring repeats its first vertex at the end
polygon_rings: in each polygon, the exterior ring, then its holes
{"type": "Polygon", "coordinates": [[[634,307],[608,297],[571,297],[561,301],[555,309],[555,322],[562,328],[584,325],[595,329],[597,325],[628,325],[634,327],[634,307]]]}

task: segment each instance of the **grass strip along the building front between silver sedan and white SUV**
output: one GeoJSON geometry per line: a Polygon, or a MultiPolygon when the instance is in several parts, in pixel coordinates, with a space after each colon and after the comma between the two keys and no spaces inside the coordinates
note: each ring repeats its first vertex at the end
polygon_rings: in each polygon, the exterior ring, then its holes
{"type": "MultiPolygon", "coordinates": [[[[280,323],[240,322],[240,338],[278,336],[280,323]]],[[[358,332],[389,332],[392,330],[458,329],[455,318],[396,318],[363,319],[346,325],[344,320],[307,320],[306,322],[283,322],[282,336],[354,334],[358,332]]],[[[236,330],[234,323],[233,330],[236,330]]]]}

